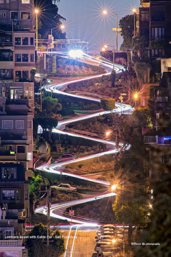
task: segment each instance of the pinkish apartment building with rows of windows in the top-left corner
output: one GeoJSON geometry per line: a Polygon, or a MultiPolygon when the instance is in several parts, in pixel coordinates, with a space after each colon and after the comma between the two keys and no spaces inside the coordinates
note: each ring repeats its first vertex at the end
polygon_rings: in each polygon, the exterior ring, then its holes
{"type": "Polygon", "coordinates": [[[28,80],[35,67],[33,0],[0,1],[0,76],[28,80]]]}

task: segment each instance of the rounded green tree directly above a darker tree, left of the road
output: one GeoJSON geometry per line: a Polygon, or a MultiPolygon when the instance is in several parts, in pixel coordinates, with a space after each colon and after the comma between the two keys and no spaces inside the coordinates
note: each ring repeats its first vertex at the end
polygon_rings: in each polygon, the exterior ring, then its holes
{"type": "Polygon", "coordinates": [[[57,111],[62,110],[62,105],[58,103],[57,99],[53,99],[52,97],[45,97],[42,100],[42,109],[46,112],[46,117],[51,117],[52,112],[55,114],[57,111]]]}

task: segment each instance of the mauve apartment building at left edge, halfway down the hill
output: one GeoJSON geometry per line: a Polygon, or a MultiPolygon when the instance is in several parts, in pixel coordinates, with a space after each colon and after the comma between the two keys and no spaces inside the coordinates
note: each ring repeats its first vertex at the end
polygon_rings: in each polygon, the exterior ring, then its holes
{"type": "Polygon", "coordinates": [[[0,162],[21,163],[25,178],[33,169],[33,112],[28,99],[0,98],[0,162]]]}

